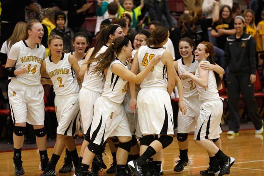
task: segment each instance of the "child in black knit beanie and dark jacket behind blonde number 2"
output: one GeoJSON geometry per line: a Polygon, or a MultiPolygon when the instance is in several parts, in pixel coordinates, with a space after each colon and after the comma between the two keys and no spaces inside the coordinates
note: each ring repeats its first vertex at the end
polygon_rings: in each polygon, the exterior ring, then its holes
{"type": "Polygon", "coordinates": [[[51,35],[59,35],[63,40],[63,52],[70,53],[74,51],[74,47],[72,45],[72,39],[74,37],[74,32],[70,28],[66,28],[66,14],[63,11],[57,11],[55,13],[55,22],[56,28],[50,32],[51,35]]]}

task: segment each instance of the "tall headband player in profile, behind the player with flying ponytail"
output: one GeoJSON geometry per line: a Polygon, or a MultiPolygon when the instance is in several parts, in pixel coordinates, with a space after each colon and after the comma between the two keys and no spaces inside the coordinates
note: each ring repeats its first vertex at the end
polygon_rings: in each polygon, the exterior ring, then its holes
{"type": "MultiPolygon", "coordinates": [[[[111,24],[103,28],[98,35],[97,42],[94,48],[91,48],[81,66],[79,75],[83,79],[83,85],[79,93],[79,102],[82,115],[82,126],[85,134],[85,139],[82,143],[79,165],[82,163],[82,157],[84,149],[90,142],[90,126],[94,115],[94,103],[99,98],[104,89],[105,73],[101,72],[98,74],[91,74],[91,70],[88,72],[87,65],[90,59],[94,59],[98,55],[104,53],[109,45],[115,38],[124,36],[122,28],[119,25],[111,24]]],[[[97,62],[91,64],[91,68],[94,67],[97,62]]],[[[106,165],[103,163],[102,153],[95,156],[92,164],[92,172],[97,173],[104,168],[106,165]]]]}

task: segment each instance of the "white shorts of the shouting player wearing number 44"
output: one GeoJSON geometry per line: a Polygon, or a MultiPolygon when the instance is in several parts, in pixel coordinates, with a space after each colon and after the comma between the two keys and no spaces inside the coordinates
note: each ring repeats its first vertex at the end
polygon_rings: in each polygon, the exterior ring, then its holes
{"type": "Polygon", "coordinates": [[[44,125],[43,96],[44,89],[41,84],[29,86],[12,80],[8,84],[8,97],[13,122],[44,125]]]}

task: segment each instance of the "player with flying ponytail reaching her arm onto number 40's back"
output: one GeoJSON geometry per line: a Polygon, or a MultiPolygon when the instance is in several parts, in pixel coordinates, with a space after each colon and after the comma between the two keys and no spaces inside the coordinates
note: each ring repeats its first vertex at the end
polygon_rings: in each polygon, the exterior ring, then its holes
{"type": "MultiPolygon", "coordinates": [[[[117,150],[116,175],[128,175],[125,170],[127,156],[131,148],[131,132],[124,107],[121,105],[127,92],[128,82],[140,83],[156,63],[159,57],[155,57],[138,75],[134,75],[127,68],[127,58],[131,57],[133,48],[131,42],[124,37],[113,40],[108,49],[89,63],[97,61],[92,68],[94,74],[107,69],[107,77],[104,91],[94,104],[94,116],[91,125],[91,143],[85,148],[81,170],[75,175],[89,175],[88,168],[95,154],[100,153],[102,145],[109,136],[117,136],[120,144],[117,150]]],[[[89,68],[89,65],[88,65],[89,68]]]]}

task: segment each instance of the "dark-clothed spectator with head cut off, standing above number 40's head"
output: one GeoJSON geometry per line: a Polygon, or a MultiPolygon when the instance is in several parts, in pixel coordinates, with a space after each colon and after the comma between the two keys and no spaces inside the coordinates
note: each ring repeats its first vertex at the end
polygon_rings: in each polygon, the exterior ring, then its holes
{"type": "Polygon", "coordinates": [[[162,26],[174,31],[175,26],[172,22],[172,16],[170,15],[170,10],[166,0],[153,0],[153,7],[150,7],[149,9],[149,17],[151,21],[159,21],[162,26]],[[165,21],[163,20],[163,15],[166,17],[165,21]]]}

